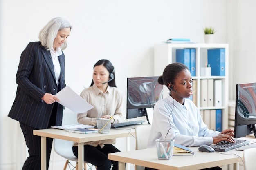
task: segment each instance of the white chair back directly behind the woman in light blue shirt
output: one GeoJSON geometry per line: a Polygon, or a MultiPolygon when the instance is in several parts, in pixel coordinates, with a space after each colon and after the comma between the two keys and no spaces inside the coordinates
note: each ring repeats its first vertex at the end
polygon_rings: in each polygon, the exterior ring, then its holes
{"type": "MultiPolygon", "coordinates": [[[[135,149],[146,149],[150,135],[151,125],[139,125],[135,128],[136,146],[135,149]]],[[[144,170],[145,167],[135,165],[135,170],[144,170]]]]}

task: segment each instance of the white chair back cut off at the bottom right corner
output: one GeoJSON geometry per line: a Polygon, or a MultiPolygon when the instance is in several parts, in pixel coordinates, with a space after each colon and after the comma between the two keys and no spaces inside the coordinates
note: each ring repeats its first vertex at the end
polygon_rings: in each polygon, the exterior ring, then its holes
{"type": "Polygon", "coordinates": [[[245,170],[255,170],[256,148],[248,148],[243,151],[245,170]]]}

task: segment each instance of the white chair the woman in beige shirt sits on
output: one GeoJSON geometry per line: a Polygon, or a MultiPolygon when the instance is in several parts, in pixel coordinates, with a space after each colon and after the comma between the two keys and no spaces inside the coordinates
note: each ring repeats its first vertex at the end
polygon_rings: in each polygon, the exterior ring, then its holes
{"type": "MultiPolygon", "coordinates": [[[[69,109],[64,109],[63,110],[63,118],[62,118],[62,125],[68,125],[68,124],[77,124],[77,114],[73,113],[69,109]]],[[[76,168],[78,169],[78,158],[74,155],[72,146],[73,142],[72,141],[66,141],[66,140],[61,140],[61,139],[54,139],[54,150],[55,152],[67,159],[64,169],[66,170],[67,166],[69,165],[70,170],[73,170],[76,168]],[[76,166],[73,166],[70,161],[75,161],[76,166]],[[71,167],[72,166],[72,167],[71,167]]],[[[92,170],[92,165],[88,164],[87,162],[84,162],[84,169],[87,170],[86,165],[88,165],[88,170],[92,170]]]]}

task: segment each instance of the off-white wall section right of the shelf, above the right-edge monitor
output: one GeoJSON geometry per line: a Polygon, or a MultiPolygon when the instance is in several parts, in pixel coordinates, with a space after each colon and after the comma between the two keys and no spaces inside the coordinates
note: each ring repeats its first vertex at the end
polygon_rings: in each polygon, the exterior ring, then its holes
{"type": "Polygon", "coordinates": [[[229,34],[230,60],[232,63],[233,76],[229,82],[232,86],[232,91],[229,91],[229,98],[235,99],[236,84],[256,82],[255,74],[255,46],[256,46],[256,22],[255,15],[256,1],[254,0],[235,0],[230,1],[231,24],[227,30],[229,34]]]}

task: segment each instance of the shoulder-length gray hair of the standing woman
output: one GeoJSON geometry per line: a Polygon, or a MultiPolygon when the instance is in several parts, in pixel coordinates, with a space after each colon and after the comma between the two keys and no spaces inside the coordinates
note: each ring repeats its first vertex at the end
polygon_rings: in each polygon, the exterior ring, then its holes
{"type": "MultiPolygon", "coordinates": [[[[54,39],[56,38],[58,31],[70,28],[72,29],[71,24],[62,17],[56,17],[50,20],[39,32],[39,40],[41,44],[47,49],[51,49],[54,43],[54,39]]],[[[61,50],[67,48],[67,43],[63,43],[61,46],[61,50]]]]}

